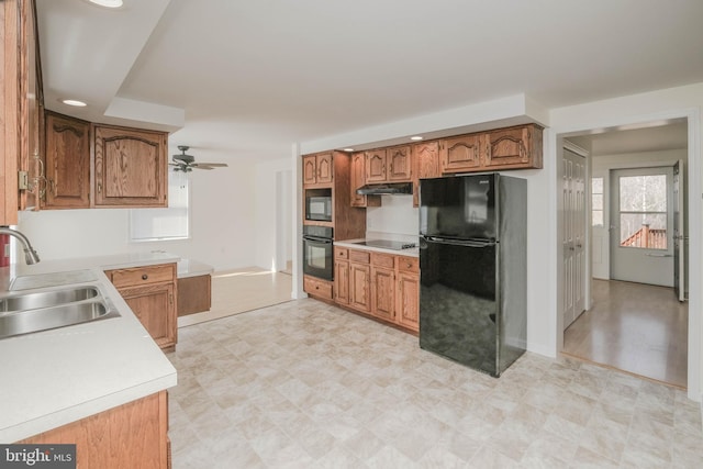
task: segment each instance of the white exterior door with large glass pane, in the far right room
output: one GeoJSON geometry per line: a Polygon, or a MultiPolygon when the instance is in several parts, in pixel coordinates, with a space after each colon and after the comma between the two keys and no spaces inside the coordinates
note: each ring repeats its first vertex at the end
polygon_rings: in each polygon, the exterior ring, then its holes
{"type": "Polygon", "coordinates": [[[611,278],[673,287],[673,168],[611,172],[611,278]]]}

